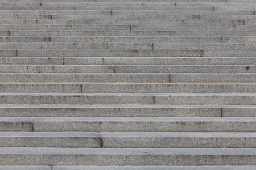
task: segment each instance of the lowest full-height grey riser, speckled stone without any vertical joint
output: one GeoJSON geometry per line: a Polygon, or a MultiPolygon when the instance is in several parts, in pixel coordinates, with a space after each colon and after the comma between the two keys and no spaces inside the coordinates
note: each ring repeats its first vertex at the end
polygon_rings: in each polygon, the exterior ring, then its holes
{"type": "MultiPolygon", "coordinates": [[[[147,151],[147,150],[146,150],[147,151]]],[[[171,152],[171,151],[170,151],[171,152]]],[[[1,154],[1,165],[255,165],[255,154],[1,154]],[[250,155],[250,156],[249,156],[250,155]],[[223,158],[225,157],[225,159],[223,158]],[[249,158],[248,158],[249,157],[249,158]],[[129,158],[129,159],[127,159],[129,158]],[[21,160],[26,161],[21,161],[21,160]]],[[[143,151],[141,152],[143,153],[143,151]]]]}

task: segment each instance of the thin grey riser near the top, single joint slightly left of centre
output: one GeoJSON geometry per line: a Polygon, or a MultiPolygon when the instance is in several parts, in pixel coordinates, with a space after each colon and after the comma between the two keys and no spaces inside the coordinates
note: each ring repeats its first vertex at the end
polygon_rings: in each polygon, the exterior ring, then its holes
{"type": "MultiPolygon", "coordinates": [[[[2,10],[0,15],[251,15],[254,17],[254,11],[163,11],[163,10],[2,10]]],[[[60,16],[56,16],[60,17],[60,16]]],[[[102,16],[104,17],[104,16],[102,16]]],[[[111,16],[109,16],[111,17],[111,16]]]]}

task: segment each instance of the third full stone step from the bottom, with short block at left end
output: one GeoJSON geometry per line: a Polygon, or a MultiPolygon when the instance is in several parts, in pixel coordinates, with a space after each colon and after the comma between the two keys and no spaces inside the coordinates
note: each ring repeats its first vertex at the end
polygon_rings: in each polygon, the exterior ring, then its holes
{"type": "Polygon", "coordinates": [[[256,117],[0,117],[0,122],[0,131],[255,133],[256,117]]]}

